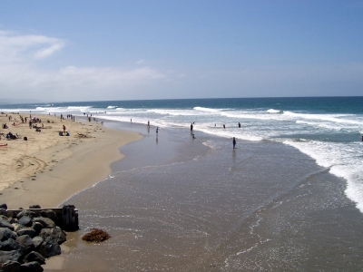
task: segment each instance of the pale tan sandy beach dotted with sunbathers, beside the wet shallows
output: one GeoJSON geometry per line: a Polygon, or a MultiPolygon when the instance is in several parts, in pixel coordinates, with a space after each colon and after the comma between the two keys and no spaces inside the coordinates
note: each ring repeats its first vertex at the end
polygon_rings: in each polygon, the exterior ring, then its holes
{"type": "MultiPolygon", "coordinates": [[[[29,114],[20,115],[29,121],[29,114]]],[[[0,114],[0,135],[9,131],[20,135],[16,140],[1,135],[0,140],[0,145],[7,144],[0,146],[0,202],[8,209],[34,204],[57,207],[74,193],[106,178],[111,173],[110,164],[123,158],[118,147],[142,139],[136,132],[105,128],[101,122],[61,121],[60,117],[39,114],[36,117],[44,129],[37,132],[23,123],[20,115],[0,114]],[[8,129],[3,129],[4,123],[8,129]],[[70,136],[59,136],[63,124],[70,136]]]]}

